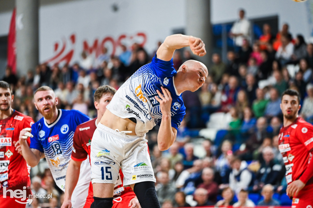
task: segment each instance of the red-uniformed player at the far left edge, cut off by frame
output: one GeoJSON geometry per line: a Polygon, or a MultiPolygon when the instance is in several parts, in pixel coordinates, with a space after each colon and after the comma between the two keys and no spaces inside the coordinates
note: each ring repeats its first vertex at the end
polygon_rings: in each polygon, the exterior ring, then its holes
{"type": "MultiPolygon", "coordinates": [[[[30,167],[28,169],[26,161],[19,154],[21,148],[15,148],[14,145],[18,142],[20,131],[30,128],[34,121],[12,109],[13,98],[11,86],[0,81],[0,206],[24,208],[28,195],[31,194],[30,167]],[[20,193],[26,190],[26,196],[13,198],[11,194],[14,190],[21,190],[20,193]]],[[[29,145],[29,138],[27,142],[29,145]]]]}

